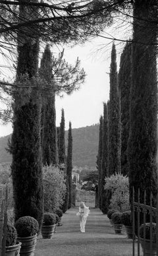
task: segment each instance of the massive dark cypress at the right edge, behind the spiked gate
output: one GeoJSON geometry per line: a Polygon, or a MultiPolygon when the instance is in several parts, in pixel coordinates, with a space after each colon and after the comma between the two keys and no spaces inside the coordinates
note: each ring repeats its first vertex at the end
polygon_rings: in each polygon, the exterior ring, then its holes
{"type": "Polygon", "coordinates": [[[157,18],[156,4],[157,1],[142,0],[134,4],[128,141],[130,203],[134,187],[136,201],[140,188],[140,203],[146,191],[146,203],[149,205],[152,193],[153,206],[157,195],[157,24],[153,22],[157,18]]]}

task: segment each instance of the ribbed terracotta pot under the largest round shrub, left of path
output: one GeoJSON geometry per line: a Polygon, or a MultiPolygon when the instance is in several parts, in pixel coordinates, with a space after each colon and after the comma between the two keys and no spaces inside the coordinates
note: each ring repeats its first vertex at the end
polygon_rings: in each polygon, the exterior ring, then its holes
{"type": "Polygon", "coordinates": [[[37,242],[37,234],[35,236],[28,236],[28,238],[17,238],[17,241],[22,243],[20,249],[20,256],[34,256],[37,242]]]}

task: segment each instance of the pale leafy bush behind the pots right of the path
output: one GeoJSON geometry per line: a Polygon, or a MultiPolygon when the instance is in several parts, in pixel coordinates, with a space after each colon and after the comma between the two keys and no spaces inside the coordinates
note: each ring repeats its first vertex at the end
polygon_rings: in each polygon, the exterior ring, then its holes
{"type": "Polygon", "coordinates": [[[105,189],[111,191],[110,208],[115,208],[120,212],[130,210],[128,177],[122,174],[106,177],[105,189]]]}

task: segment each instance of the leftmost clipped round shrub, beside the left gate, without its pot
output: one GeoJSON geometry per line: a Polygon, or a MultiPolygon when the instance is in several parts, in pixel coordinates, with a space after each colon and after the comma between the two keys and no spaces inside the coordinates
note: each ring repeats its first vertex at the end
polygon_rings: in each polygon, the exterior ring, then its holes
{"type": "Polygon", "coordinates": [[[5,246],[12,246],[16,244],[17,232],[13,225],[7,224],[7,236],[5,246]]]}

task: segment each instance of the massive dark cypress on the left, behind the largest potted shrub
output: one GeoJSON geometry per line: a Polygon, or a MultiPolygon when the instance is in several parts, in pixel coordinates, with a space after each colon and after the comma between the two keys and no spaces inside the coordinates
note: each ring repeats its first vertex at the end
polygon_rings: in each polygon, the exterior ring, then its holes
{"type": "MultiPolygon", "coordinates": [[[[36,18],[37,12],[36,7],[20,5],[19,16],[21,20],[26,20],[28,15],[36,18]]],[[[39,40],[32,31],[33,26],[18,33],[17,82],[28,78],[31,83],[38,71],[39,40]]],[[[38,220],[39,226],[43,215],[40,102],[36,88],[22,88],[14,93],[11,144],[15,220],[29,215],[38,220]]]]}

